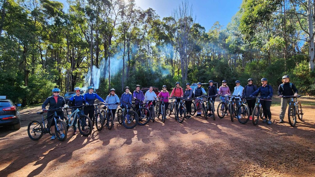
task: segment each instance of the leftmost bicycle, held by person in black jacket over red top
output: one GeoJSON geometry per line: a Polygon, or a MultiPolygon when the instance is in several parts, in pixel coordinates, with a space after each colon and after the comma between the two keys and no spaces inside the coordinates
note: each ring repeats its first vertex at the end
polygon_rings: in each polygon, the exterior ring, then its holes
{"type": "MultiPolygon", "coordinates": [[[[27,134],[28,137],[31,138],[31,140],[37,141],[42,138],[42,136],[46,133],[50,133],[50,128],[52,126],[52,120],[55,121],[55,132],[56,136],[59,141],[65,141],[67,138],[67,129],[66,129],[66,124],[63,120],[61,120],[60,116],[57,115],[57,111],[62,111],[62,108],[56,108],[56,109],[49,109],[48,112],[54,112],[54,114],[51,114],[49,117],[52,117],[50,119],[50,122],[48,124],[48,127],[46,128],[45,125],[45,120],[43,117],[43,111],[42,112],[37,112],[37,114],[40,114],[42,116],[42,121],[39,122],[37,120],[32,120],[28,126],[27,126],[27,134]]],[[[48,118],[49,118],[48,117],[48,118]]]]}

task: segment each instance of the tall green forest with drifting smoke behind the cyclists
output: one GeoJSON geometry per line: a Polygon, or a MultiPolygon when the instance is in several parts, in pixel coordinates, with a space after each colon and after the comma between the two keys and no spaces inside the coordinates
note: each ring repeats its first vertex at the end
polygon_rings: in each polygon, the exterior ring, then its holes
{"type": "MultiPolygon", "coordinates": [[[[315,94],[314,0],[243,0],[226,27],[206,30],[183,1],[169,17],[134,0],[0,0],[0,95],[23,106],[93,85],[111,88],[176,81],[248,78],[274,90],[289,75],[299,91],[315,94]]],[[[233,89],[232,89],[233,90],[233,89]]]]}

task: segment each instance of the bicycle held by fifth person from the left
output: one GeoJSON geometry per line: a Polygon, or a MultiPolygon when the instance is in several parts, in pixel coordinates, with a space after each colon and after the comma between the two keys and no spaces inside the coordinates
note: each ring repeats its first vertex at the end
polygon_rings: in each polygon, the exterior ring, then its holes
{"type": "Polygon", "coordinates": [[[135,111],[131,111],[128,109],[128,104],[129,104],[128,102],[125,102],[122,100],[120,100],[120,101],[126,103],[126,108],[123,108],[126,110],[126,113],[124,113],[122,108],[119,108],[119,110],[117,112],[118,122],[121,121],[124,127],[126,127],[127,129],[132,129],[139,122],[138,114],[135,111]]]}

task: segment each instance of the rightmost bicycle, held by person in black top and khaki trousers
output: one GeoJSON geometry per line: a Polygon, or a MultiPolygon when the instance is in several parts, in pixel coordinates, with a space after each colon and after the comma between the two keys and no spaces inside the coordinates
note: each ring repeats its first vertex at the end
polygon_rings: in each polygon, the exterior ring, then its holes
{"type": "Polygon", "coordinates": [[[291,101],[289,102],[289,109],[288,109],[288,119],[289,124],[294,127],[296,124],[296,115],[298,115],[298,118],[300,120],[303,119],[303,110],[301,102],[297,101],[297,98],[305,96],[305,95],[298,95],[296,97],[294,96],[282,96],[282,98],[291,98],[291,101]]]}

